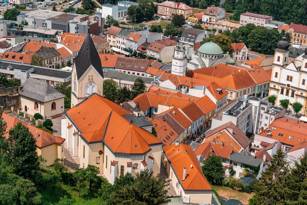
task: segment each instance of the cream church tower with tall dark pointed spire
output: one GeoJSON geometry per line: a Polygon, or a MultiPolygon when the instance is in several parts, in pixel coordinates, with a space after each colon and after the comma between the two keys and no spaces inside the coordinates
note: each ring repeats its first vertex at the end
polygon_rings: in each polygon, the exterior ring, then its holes
{"type": "Polygon", "coordinates": [[[89,33],[72,68],[71,107],[87,99],[91,94],[103,95],[103,70],[101,60],[89,33]]]}

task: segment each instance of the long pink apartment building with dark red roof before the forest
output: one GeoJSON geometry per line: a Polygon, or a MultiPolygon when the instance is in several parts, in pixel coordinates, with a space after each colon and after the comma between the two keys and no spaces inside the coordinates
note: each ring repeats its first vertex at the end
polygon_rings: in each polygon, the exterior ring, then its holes
{"type": "Polygon", "coordinates": [[[245,26],[248,23],[255,24],[256,26],[265,26],[270,20],[273,20],[273,17],[246,12],[240,15],[240,26],[245,26]]]}

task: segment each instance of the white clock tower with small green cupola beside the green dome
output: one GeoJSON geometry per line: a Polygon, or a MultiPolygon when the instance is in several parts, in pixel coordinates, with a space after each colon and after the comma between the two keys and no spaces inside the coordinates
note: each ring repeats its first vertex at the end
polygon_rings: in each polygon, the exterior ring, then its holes
{"type": "Polygon", "coordinates": [[[175,46],[175,52],[172,61],[172,74],[185,76],[187,69],[186,49],[182,43],[175,46]]]}

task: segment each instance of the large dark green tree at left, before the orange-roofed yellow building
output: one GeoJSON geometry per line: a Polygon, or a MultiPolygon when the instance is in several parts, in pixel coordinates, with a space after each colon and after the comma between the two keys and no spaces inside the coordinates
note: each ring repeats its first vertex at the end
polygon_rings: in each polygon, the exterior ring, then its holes
{"type": "Polygon", "coordinates": [[[21,122],[9,130],[9,155],[14,173],[33,180],[39,170],[36,138],[21,122]]]}

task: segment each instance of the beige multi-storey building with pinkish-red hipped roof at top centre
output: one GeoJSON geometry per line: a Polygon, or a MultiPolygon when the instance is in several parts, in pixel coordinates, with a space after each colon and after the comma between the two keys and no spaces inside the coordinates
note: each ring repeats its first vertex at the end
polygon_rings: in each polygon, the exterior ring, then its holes
{"type": "Polygon", "coordinates": [[[192,11],[193,8],[184,3],[165,1],[158,4],[158,14],[168,18],[173,18],[175,14],[182,14],[185,19],[188,19],[192,11]]]}

